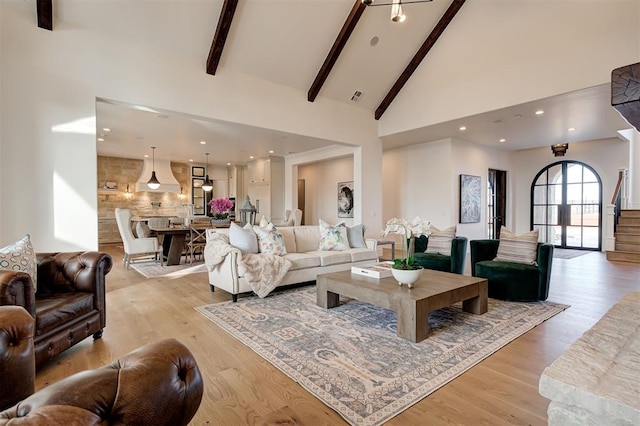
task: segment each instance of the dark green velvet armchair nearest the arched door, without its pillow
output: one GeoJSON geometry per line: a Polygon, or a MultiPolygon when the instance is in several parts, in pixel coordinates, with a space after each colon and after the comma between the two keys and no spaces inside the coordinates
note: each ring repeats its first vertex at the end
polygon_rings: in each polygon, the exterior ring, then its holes
{"type": "Polygon", "coordinates": [[[489,281],[489,297],[531,302],[547,300],[553,245],[538,243],[537,265],[494,261],[500,240],[471,240],[471,275],[489,281]]]}

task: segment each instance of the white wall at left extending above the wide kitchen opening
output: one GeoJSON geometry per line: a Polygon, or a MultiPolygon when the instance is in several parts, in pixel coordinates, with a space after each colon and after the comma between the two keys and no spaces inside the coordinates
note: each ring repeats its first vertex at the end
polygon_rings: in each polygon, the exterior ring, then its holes
{"type": "MultiPolygon", "coordinates": [[[[95,133],[52,130],[95,117],[96,97],[360,145],[374,159],[363,163],[363,176],[379,175],[380,141],[368,111],[310,103],[305,93],[225,69],[210,76],[204,57],[190,62],[64,20],[45,31],[34,11],[31,2],[0,2],[0,194],[11,200],[0,241],[29,232],[37,251],[97,248],[95,133]]],[[[374,213],[376,182],[362,182],[374,213]]]]}

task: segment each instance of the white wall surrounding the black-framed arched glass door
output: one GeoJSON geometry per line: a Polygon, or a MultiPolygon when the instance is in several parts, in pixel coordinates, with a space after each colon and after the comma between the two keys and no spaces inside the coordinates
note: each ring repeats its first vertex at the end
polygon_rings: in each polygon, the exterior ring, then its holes
{"type": "Polygon", "coordinates": [[[629,167],[629,143],[617,138],[570,143],[564,157],[554,157],[550,147],[512,153],[514,172],[511,173],[512,179],[509,180],[509,185],[513,188],[510,193],[512,193],[513,211],[516,212],[514,220],[517,233],[526,232],[531,226],[530,197],[533,179],[546,166],[563,160],[580,161],[593,167],[602,179],[604,206],[611,202],[618,180],[618,169],[629,167]]]}

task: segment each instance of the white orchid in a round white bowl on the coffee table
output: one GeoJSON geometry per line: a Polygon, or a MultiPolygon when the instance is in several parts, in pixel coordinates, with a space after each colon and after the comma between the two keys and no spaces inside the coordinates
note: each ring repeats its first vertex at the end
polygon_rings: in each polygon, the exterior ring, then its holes
{"type": "Polygon", "coordinates": [[[425,221],[416,216],[411,222],[406,219],[393,218],[387,221],[382,236],[389,233],[400,234],[403,236],[403,248],[406,257],[403,259],[395,259],[391,266],[391,273],[398,281],[398,285],[407,284],[409,288],[413,288],[413,284],[420,278],[422,266],[415,263],[413,257],[415,252],[416,237],[421,235],[429,235],[431,222],[425,221]]]}

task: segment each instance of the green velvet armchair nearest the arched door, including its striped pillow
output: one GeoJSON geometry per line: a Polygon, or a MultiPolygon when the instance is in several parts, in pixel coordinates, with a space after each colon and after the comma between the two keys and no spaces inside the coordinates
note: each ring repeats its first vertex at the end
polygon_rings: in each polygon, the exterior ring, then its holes
{"type": "Polygon", "coordinates": [[[489,297],[530,302],[547,300],[553,245],[536,231],[516,237],[502,228],[499,240],[471,240],[471,275],[489,281],[489,297]],[[528,235],[529,241],[523,241],[528,235]]]}

